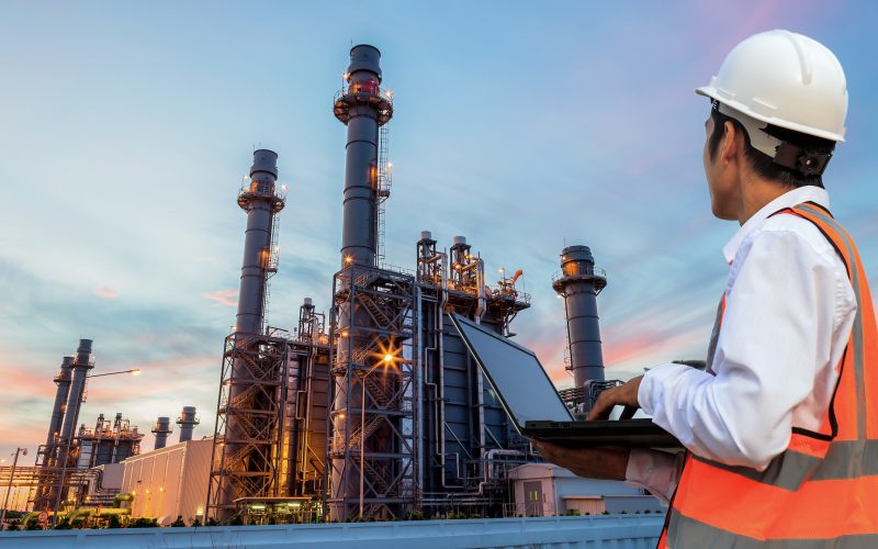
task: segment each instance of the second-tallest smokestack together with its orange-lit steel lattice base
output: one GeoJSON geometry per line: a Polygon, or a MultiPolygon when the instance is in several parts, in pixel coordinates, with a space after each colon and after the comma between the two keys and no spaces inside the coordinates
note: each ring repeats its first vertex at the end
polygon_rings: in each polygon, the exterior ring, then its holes
{"type": "Polygon", "coordinates": [[[279,491],[288,338],[266,326],[269,278],[278,270],[277,214],[284,206],[277,161],[275,153],[256,150],[249,184],[238,193],[247,231],[235,332],[223,354],[207,489],[207,514],[218,520],[248,497],[279,491]]]}

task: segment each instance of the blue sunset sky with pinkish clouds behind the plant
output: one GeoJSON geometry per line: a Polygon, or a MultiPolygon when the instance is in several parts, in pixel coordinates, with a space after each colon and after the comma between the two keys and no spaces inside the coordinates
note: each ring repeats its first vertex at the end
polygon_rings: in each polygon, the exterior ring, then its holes
{"type": "Polygon", "coordinates": [[[271,323],[291,328],[305,296],[327,306],[345,154],[330,104],[352,43],[381,48],[395,93],[387,261],[410,267],[428,229],[465,235],[489,273],[524,269],[515,332],[559,383],[565,244],[608,271],[610,374],[703,356],[736,227],[710,215],[693,89],[756,32],[802,32],[845,67],[848,143],[825,179],[878,287],[876,25],[865,1],[0,0],[0,450],[45,437],[80,337],[94,373],[144,370],[94,380],[81,422],[122,412],[148,432],[195,405],[196,436],[212,432],[254,147],[290,187],[271,323]]]}

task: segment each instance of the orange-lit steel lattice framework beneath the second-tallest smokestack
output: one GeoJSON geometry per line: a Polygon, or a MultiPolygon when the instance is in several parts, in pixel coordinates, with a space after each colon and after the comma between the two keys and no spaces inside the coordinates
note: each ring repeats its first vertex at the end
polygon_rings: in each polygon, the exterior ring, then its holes
{"type": "Polygon", "coordinates": [[[286,410],[285,337],[236,333],[226,337],[219,397],[214,428],[207,516],[237,512],[243,497],[271,497],[283,491],[280,482],[282,426],[286,410]],[[247,377],[233,372],[244,367],[247,377]],[[233,385],[244,390],[234,399],[233,385]],[[227,438],[234,422],[238,439],[227,438]]]}

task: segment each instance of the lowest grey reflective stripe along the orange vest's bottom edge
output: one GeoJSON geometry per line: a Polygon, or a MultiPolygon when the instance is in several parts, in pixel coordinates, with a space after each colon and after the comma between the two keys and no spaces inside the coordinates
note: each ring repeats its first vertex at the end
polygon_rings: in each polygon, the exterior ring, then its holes
{"type": "MultiPolygon", "coordinates": [[[[706,490],[709,490],[706,488],[706,490]]],[[[831,505],[831,503],[828,503],[831,505]]],[[[689,518],[676,511],[671,512],[667,523],[667,547],[674,549],[711,548],[711,549],[875,549],[878,547],[878,534],[860,534],[838,536],[831,539],[792,538],[759,540],[740,536],[731,531],[710,526],[689,518]],[[672,540],[680,539],[679,546],[672,540]]]]}

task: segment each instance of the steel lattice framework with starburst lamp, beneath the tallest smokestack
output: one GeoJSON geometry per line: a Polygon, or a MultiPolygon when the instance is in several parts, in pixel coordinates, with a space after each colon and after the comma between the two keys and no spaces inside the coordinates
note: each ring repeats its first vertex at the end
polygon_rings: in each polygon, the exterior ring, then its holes
{"type": "Polygon", "coordinates": [[[417,289],[414,277],[374,267],[334,277],[327,495],[335,519],[405,517],[420,498],[417,289]]]}

